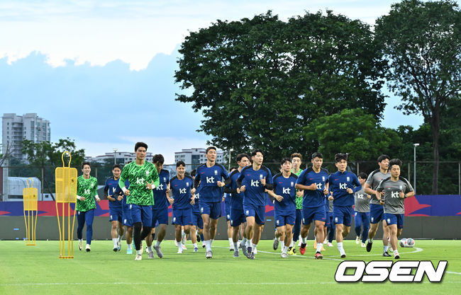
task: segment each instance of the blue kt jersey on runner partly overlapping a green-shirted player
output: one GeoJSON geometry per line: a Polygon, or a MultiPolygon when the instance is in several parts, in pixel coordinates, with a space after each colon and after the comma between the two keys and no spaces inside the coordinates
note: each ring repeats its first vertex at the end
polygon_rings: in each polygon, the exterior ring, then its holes
{"type": "Polygon", "coordinates": [[[296,190],[294,188],[296,180],[298,176],[294,173],[291,173],[288,178],[285,178],[282,173],[274,176],[274,193],[283,197],[280,202],[277,199],[274,201],[274,210],[278,214],[296,211],[296,190]]]}

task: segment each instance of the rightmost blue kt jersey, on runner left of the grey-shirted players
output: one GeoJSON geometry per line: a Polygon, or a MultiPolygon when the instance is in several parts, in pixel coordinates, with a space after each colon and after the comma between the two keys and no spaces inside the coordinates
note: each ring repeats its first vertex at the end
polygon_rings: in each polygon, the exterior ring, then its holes
{"type": "Polygon", "coordinates": [[[333,206],[346,207],[354,204],[354,194],[362,190],[362,185],[352,172],[336,172],[328,178],[330,183],[329,190],[333,192],[333,206]],[[347,189],[352,189],[352,194],[348,193],[347,189]]]}

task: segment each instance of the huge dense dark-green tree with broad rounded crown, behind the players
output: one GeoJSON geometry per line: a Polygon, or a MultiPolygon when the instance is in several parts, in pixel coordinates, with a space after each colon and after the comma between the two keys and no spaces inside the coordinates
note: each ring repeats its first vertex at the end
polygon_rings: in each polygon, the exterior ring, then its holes
{"type": "Polygon", "coordinates": [[[203,112],[199,131],[222,149],[257,147],[278,160],[318,144],[302,135],[316,117],[362,108],[379,119],[384,110],[387,63],[369,26],[331,11],[216,21],[179,52],[177,100],[203,112]]]}

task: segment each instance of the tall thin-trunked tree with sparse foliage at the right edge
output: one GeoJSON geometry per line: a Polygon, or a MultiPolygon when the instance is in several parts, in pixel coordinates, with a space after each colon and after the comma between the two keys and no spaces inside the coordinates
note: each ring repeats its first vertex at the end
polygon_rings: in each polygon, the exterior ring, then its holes
{"type": "Polygon", "coordinates": [[[406,115],[421,114],[433,137],[432,194],[438,193],[440,121],[461,91],[461,12],[455,1],[404,0],[377,19],[376,39],[389,58],[389,88],[406,115]]]}

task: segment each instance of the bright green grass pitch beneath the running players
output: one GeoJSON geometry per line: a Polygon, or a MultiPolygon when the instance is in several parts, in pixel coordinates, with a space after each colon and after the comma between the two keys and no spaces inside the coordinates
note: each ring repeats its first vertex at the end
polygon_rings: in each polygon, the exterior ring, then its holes
{"type": "MultiPolygon", "coordinates": [[[[371,253],[355,241],[345,241],[348,260],[387,260],[382,243],[371,253]]],[[[228,241],[213,243],[213,259],[205,251],[188,249],[176,254],[173,241],[164,241],[164,258],[135,261],[121,252],[113,253],[112,241],[93,241],[91,252],[79,251],[74,259],[60,260],[57,241],[0,241],[0,294],[459,294],[461,289],[461,241],[416,241],[415,248],[399,248],[402,260],[448,260],[443,282],[431,283],[337,283],[335,270],[341,259],[336,247],[314,260],[309,241],[306,255],[280,258],[272,241],[261,241],[255,260],[243,255],[233,258],[228,241]],[[379,289],[377,289],[379,288],[379,289]],[[296,292],[296,293],[295,293],[296,292]],[[304,293],[301,293],[304,292],[304,293]],[[364,293],[366,292],[366,293],[364,293]]],[[[392,259],[391,259],[392,260],[392,259]]]]}

